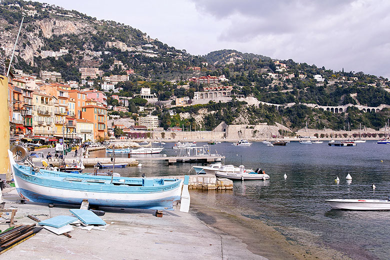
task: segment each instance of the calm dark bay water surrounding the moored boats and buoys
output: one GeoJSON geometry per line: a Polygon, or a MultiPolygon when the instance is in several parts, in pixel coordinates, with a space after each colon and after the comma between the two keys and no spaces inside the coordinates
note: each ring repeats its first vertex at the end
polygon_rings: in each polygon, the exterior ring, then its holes
{"type": "MultiPolygon", "coordinates": [[[[172,143],[165,145],[171,146],[172,143]]],[[[169,148],[163,153],[175,155],[175,150],[169,148]]],[[[311,145],[291,142],[284,147],[267,147],[255,142],[250,147],[220,143],[211,146],[212,151],[215,149],[226,156],[225,164],[261,167],[270,178],[234,181],[232,191],[195,191],[212,207],[260,219],[288,239],[328,246],[353,259],[390,258],[390,211],[335,210],[323,201],[327,198],[387,198],[390,195],[390,145],[367,141],[355,147],[330,147],[327,142],[311,145]],[[352,176],[350,184],[345,181],[348,173],[352,176]],[[337,176],[338,184],[334,182],[337,176]],[[375,191],[372,183],[376,185],[375,191]]],[[[105,156],[105,152],[91,152],[91,156],[105,156]]],[[[115,171],[123,176],[178,175],[187,173],[194,165],[168,166],[166,162],[157,161],[142,164],[141,168],[115,171]]]]}

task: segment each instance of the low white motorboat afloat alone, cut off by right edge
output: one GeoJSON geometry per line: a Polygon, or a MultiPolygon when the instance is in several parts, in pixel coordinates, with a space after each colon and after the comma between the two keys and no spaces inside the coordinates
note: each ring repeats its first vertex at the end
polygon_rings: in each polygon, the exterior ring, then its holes
{"type": "Polygon", "coordinates": [[[390,210],[390,201],[384,199],[325,199],[336,209],[349,210],[390,210]]]}

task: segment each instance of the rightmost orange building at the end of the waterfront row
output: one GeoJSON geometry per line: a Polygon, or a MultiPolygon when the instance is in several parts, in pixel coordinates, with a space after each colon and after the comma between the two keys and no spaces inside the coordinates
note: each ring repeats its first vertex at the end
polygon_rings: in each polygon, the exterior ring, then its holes
{"type": "Polygon", "coordinates": [[[107,108],[97,105],[82,106],[82,118],[93,123],[93,137],[97,140],[99,137],[107,136],[107,108]]]}

